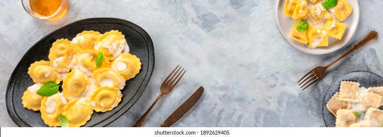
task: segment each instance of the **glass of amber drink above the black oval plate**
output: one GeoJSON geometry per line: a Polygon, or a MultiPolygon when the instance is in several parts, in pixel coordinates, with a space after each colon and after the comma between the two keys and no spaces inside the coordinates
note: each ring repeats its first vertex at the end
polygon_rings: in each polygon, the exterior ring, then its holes
{"type": "Polygon", "coordinates": [[[35,18],[56,21],[65,16],[69,0],[22,0],[26,12],[35,18]]]}

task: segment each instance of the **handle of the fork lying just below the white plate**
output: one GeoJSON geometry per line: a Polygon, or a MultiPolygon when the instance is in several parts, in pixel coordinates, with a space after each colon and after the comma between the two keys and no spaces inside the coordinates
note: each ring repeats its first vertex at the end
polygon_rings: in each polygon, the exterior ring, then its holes
{"type": "Polygon", "coordinates": [[[330,63],[329,65],[326,66],[326,68],[330,68],[332,65],[334,65],[336,62],[338,62],[339,60],[343,59],[344,57],[350,55],[351,53],[353,53],[354,51],[356,51],[357,49],[359,49],[360,47],[362,46],[365,46],[371,42],[374,42],[378,39],[378,32],[376,31],[369,31],[366,36],[363,37],[363,39],[361,39],[359,42],[357,42],[357,44],[355,44],[354,46],[352,46],[350,49],[348,49],[346,52],[344,52],[340,57],[338,57],[336,60],[334,60],[332,63],[330,63]]]}

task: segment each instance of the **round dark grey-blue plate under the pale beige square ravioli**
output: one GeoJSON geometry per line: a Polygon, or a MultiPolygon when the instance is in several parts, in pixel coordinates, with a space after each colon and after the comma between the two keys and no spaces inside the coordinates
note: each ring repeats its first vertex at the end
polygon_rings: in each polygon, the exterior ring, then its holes
{"type": "MultiPolygon", "coordinates": [[[[360,87],[365,88],[383,86],[383,77],[368,71],[353,71],[337,78],[332,82],[323,100],[322,113],[327,127],[335,127],[336,119],[336,117],[327,109],[327,101],[330,100],[335,92],[339,91],[340,82],[344,80],[358,82],[360,87]]],[[[382,109],[382,107],[380,109],[382,109]]]]}

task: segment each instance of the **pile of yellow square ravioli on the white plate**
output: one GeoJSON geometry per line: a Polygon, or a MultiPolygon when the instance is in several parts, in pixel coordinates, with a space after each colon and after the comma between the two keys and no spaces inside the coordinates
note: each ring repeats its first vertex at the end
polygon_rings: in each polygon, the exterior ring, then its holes
{"type": "Polygon", "coordinates": [[[329,46],[328,36],[342,39],[347,25],[343,22],[353,12],[347,0],[337,0],[336,5],[329,9],[323,7],[323,0],[286,0],[284,14],[293,20],[298,20],[291,29],[290,36],[303,44],[309,44],[311,49],[329,46]],[[335,19],[333,16],[335,16],[335,19]],[[298,23],[306,21],[308,28],[297,30],[298,23]],[[338,22],[339,21],[339,22],[338,22]]]}

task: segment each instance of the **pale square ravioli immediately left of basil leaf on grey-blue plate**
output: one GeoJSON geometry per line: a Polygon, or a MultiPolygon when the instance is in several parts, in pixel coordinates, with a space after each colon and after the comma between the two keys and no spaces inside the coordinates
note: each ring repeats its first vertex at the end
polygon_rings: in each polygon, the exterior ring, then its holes
{"type": "Polygon", "coordinates": [[[336,112],[336,127],[350,127],[356,122],[355,110],[340,109],[336,112]]]}

